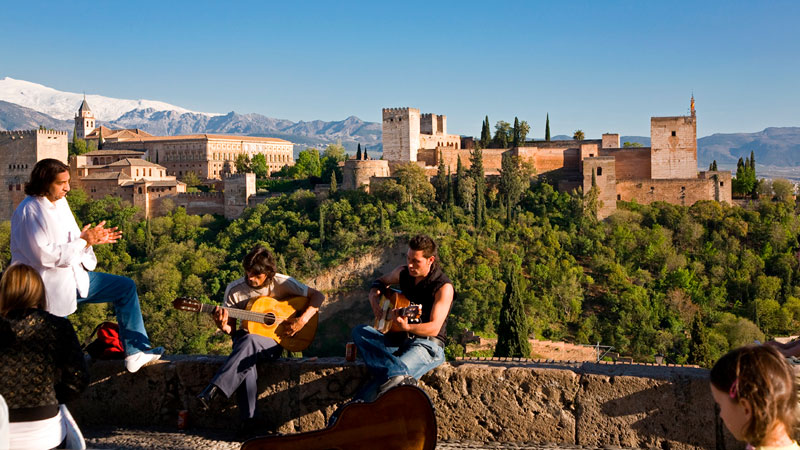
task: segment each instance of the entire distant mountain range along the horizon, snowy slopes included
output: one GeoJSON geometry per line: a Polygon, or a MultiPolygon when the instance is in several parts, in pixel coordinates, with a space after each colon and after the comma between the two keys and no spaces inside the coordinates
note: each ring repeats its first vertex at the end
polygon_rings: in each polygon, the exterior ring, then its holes
{"type": "MultiPolygon", "coordinates": [[[[195,133],[271,136],[292,141],[295,152],[305,147],[324,148],[341,142],[355,151],[358,143],[374,153],[382,151],[382,125],[350,116],[325,122],[293,122],[261,114],[212,114],[153,100],[125,100],[87,95],[86,101],[98,125],[109,128],[139,128],[154,135],[195,133]]],[[[72,133],[73,117],[82,94],[61,92],[47,86],[12,78],[0,79],[0,130],[47,128],[72,133]]],[[[553,139],[570,139],[554,136],[553,139]]],[[[620,142],[650,145],[645,136],[622,136],[620,142]]],[[[713,134],[697,140],[698,166],[716,160],[721,169],[735,169],[739,158],[753,152],[759,165],[800,167],[800,127],[766,128],[756,133],[713,134]]]]}

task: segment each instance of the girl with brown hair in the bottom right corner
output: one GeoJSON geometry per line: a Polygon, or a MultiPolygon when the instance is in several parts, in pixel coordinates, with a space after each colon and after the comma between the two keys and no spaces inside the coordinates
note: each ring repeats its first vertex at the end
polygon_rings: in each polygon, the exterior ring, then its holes
{"type": "Polygon", "coordinates": [[[711,369],[711,395],[733,436],[757,449],[800,450],[792,440],[797,386],[783,355],[768,345],[731,350],[711,369]]]}

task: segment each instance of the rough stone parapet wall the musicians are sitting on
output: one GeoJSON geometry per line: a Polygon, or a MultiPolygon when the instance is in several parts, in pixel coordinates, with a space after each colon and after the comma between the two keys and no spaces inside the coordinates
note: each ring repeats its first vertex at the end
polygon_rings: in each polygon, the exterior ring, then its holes
{"type": "MultiPolygon", "coordinates": [[[[68,406],[87,427],[174,427],[178,411],[188,410],[190,427],[235,429],[234,399],[215,399],[204,412],[195,398],[224,359],[170,356],[135,374],[122,361],[95,362],[90,387],[68,406]]],[[[363,364],[342,358],[281,359],[258,371],[265,433],[323,428],[367,376],[363,364]]],[[[481,358],[446,363],[420,386],[435,407],[439,439],[743,448],[722,431],[708,371],[699,368],[481,358]]]]}

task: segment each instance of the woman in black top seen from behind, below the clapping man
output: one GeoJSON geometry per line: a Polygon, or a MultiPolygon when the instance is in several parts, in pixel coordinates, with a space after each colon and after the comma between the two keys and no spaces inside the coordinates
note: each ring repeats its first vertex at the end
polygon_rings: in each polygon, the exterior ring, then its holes
{"type": "Polygon", "coordinates": [[[8,404],[4,448],[50,449],[66,437],[65,410],[89,384],[69,320],[44,310],[45,288],[32,267],[13,264],[0,278],[0,395],[8,404]]]}

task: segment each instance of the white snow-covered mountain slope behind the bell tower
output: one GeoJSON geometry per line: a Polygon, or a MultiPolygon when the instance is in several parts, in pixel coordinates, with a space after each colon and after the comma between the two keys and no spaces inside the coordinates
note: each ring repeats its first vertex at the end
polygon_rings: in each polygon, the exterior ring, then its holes
{"type": "MultiPolygon", "coordinates": [[[[62,92],[30,81],[5,77],[0,79],[0,100],[39,111],[56,119],[71,120],[75,117],[75,112],[83,101],[83,94],[62,92]]],[[[180,106],[155,100],[126,100],[88,94],[86,101],[92,108],[95,118],[102,121],[112,121],[128,111],[147,108],[156,111],[176,111],[179,114],[217,115],[190,111],[180,106]]]]}

